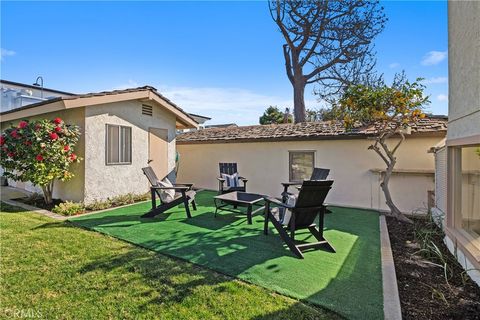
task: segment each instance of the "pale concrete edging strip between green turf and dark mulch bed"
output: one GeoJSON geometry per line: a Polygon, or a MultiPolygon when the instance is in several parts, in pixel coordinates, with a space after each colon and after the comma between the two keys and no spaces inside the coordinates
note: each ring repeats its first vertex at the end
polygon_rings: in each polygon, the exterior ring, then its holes
{"type": "Polygon", "coordinates": [[[397,275],[393,261],[387,221],[380,215],[380,250],[382,256],[383,313],[387,320],[401,320],[402,309],[398,294],[397,275]]]}

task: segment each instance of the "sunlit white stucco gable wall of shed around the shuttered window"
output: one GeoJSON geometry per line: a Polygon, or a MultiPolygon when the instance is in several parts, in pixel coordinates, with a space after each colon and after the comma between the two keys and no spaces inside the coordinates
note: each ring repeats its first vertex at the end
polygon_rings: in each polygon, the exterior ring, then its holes
{"type": "Polygon", "coordinates": [[[153,116],[142,115],[142,103],[126,101],[85,108],[85,198],[86,203],[126,193],[148,191],[141,168],[147,165],[150,127],[168,130],[168,168],[175,167],[175,116],[151,104],[153,116]],[[106,165],[106,124],[132,128],[132,163],[106,165]]]}

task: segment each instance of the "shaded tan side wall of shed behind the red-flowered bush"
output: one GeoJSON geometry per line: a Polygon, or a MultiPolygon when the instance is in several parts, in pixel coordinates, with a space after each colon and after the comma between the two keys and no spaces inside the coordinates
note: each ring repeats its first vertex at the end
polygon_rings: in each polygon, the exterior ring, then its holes
{"type": "MultiPolygon", "coordinates": [[[[80,127],[80,138],[75,147],[75,153],[82,158],[85,158],[85,109],[76,108],[70,110],[63,110],[57,112],[45,113],[38,116],[22,118],[30,121],[39,119],[55,119],[56,117],[62,118],[67,124],[74,124],[80,127]]],[[[1,130],[10,127],[10,125],[17,125],[19,120],[11,122],[2,122],[1,130]]],[[[3,169],[2,169],[3,170],[3,169]]],[[[84,195],[84,174],[85,174],[85,162],[74,163],[71,166],[71,171],[74,177],[66,182],[56,181],[53,190],[53,197],[71,200],[82,201],[84,195]]],[[[32,185],[30,182],[17,182],[11,179],[8,180],[8,184],[12,187],[25,189],[30,192],[41,193],[41,189],[32,185]]]]}

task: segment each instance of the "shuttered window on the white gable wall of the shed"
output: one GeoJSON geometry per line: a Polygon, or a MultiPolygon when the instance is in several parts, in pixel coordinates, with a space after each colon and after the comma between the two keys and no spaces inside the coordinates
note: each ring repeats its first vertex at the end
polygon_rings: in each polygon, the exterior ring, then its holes
{"type": "Polygon", "coordinates": [[[106,164],[132,163],[132,128],[107,124],[106,164]]]}

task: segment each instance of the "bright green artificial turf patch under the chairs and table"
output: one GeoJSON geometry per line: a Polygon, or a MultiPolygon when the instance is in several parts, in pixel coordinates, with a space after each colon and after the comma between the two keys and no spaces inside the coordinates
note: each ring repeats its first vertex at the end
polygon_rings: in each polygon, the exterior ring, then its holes
{"type": "MultiPolygon", "coordinates": [[[[141,203],[71,219],[139,246],[179,257],[281,294],[331,309],[347,318],[383,318],[378,213],[331,208],[325,238],[336,253],[315,250],[296,258],[273,232],[263,234],[263,217],[248,225],[244,215],[213,215],[212,192],[200,192],[198,210],[187,219],[182,207],[142,219],[141,203]]],[[[298,239],[314,240],[307,232],[298,239]]]]}

